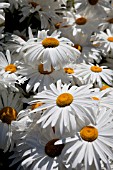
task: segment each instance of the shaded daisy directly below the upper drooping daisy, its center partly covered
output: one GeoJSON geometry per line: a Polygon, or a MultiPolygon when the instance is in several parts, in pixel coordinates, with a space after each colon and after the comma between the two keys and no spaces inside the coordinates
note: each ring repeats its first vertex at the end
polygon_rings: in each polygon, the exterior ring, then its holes
{"type": "Polygon", "coordinates": [[[32,65],[24,64],[24,68],[20,70],[21,75],[28,80],[26,85],[26,92],[33,90],[33,92],[41,92],[44,87],[49,88],[51,83],[56,83],[61,79],[63,83],[69,83],[70,79],[63,69],[54,70],[51,67],[50,71],[44,71],[43,64],[32,63],[32,65]]]}

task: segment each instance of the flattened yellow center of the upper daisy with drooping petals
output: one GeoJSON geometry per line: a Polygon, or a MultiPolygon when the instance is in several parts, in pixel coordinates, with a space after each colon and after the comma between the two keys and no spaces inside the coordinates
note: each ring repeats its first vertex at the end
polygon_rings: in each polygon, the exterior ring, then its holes
{"type": "Polygon", "coordinates": [[[42,41],[42,45],[45,47],[45,48],[54,48],[54,47],[57,47],[59,46],[59,41],[56,39],[56,38],[45,38],[43,41],[42,41]]]}

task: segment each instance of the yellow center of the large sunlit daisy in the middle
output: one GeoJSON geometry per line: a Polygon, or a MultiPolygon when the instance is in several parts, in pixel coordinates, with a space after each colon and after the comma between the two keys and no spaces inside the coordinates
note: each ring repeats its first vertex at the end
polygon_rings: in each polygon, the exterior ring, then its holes
{"type": "Polygon", "coordinates": [[[73,96],[69,93],[63,93],[57,97],[56,104],[59,107],[69,106],[73,102],[73,96]]]}

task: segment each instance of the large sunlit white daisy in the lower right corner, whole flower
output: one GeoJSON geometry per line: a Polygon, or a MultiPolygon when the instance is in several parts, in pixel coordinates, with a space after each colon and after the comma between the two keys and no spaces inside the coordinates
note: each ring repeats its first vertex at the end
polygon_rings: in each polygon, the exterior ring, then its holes
{"type": "MultiPolygon", "coordinates": [[[[94,111],[96,112],[96,110],[94,111]]],[[[101,169],[101,161],[106,169],[110,169],[108,159],[113,160],[113,116],[112,110],[103,108],[101,111],[94,113],[98,116],[95,123],[86,121],[80,130],[74,135],[63,138],[55,142],[57,144],[66,145],[65,155],[66,162],[75,169],[78,164],[84,164],[85,169],[101,169]]]]}

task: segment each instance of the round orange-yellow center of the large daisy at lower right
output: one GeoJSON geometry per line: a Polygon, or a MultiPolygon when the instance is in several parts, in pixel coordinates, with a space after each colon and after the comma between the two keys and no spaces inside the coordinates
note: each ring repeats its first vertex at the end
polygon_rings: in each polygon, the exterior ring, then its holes
{"type": "Polygon", "coordinates": [[[85,141],[93,142],[98,138],[98,130],[93,126],[85,126],[81,129],[80,136],[85,141]]]}

